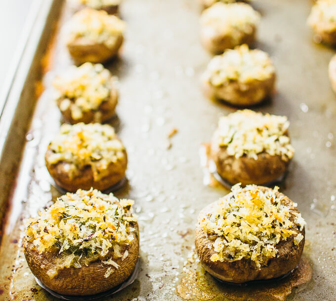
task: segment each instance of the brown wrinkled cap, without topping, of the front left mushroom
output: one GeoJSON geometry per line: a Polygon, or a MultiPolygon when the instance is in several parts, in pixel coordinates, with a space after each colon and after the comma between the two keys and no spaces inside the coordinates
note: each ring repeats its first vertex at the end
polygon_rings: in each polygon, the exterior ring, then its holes
{"type": "Polygon", "coordinates": [[[88,296],[108,291],[124,281],[132,274],[139,256],[139,235],[138,225],[134,226],[134,239],[126,246],[128,255],[122,258],[113,259],[120,267],[105,277],[105,273],[111,265],[103,264],[102,261],[108,256],[97,261],[90,262],[81,268],[69,267],[61,269],[57,276],[50,278],[46,271],[54,267],[59,255],[57,252],[39,253],[32,242],[24,240],[24,253],[28,266],[36,278],[52,291],[69,296],[88,296]]]}

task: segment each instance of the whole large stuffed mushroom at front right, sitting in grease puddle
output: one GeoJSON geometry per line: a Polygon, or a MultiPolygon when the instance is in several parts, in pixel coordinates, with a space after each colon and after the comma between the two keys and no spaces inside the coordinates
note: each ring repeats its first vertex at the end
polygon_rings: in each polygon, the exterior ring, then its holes
{"type": "Polygon", "coordinates": [[[278,278],[292,271],[305,236],[305,221],[296,205],[277,187],[232,187],[198,217],[195,245],[205,270],[232,283],[278,278]]]}

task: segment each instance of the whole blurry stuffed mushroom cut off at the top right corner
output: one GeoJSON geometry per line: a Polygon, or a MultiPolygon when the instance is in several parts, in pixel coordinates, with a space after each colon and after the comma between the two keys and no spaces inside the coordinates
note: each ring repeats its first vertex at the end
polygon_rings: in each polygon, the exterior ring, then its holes
{"type": "Polygon", "coordinates": [[[336,45],[336,0],[318,0],[308,17],[316,42],[336,45]]]}

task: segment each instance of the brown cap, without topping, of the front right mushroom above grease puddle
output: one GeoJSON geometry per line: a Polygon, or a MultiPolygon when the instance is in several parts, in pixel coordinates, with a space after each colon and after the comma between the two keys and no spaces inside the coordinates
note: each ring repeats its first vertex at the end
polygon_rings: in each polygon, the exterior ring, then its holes
{"type": "MultiPolygon", "coordinates": [[[[257,187],[262,191],[270,190],[267,187],[257,187]]],[[[292,207],[293,211],[298,212],[296,207],[293,207],[293,202],[285,195],[277,192],[277,196],[281,196],[282,203],[292,207]]],[[[208,214],[213,212],[213,206],[216,202],[206,206],[199,214],[198,220],[207,218],[208,214]]],[[[294,218],[294,216],[293,216],[294,218]]],[[[215,253],[212,246],[215,238],[209,238],[207,233],[200,228],[196,228],[195,232],[195,246],[197,254],[200,258],[202,266],[212,276],[232,283],[244,283],[253,280],[266,280],[277,278],[286,275],[293,270],[303,252],[304,247],[304,228],[302,231],[297,230],[297,233],[303,235],[303,239],[298,245],[294,244],[294,236],[292,235],[287,240],[280,241],[275,248],[278,250],[276,257],[270,258],[267,265],[261,266],[257,269],[251,259],[242,258],[240,260],[228,261],[212,261],[210,257],[215,253]]]]}

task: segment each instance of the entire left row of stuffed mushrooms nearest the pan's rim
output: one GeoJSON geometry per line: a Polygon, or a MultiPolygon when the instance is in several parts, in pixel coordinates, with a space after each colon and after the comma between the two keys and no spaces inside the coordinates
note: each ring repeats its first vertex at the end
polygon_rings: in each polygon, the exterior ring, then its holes
{"type": "Polygon", "coordinates": [[[88,296],[129,281],[139,257],[132,200],[112,193],[124,182],[127,152],[115,129],[117,78],[101,64],[124,41],[121,0],[73,0],[78,10],[62,33],[75,65],[53,80],[63,121],[45,164],[65,195],[26,221],[24,253],[37,282],[52,295],[88,296]]]}

